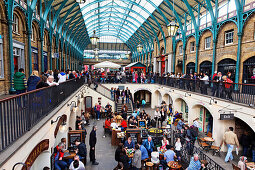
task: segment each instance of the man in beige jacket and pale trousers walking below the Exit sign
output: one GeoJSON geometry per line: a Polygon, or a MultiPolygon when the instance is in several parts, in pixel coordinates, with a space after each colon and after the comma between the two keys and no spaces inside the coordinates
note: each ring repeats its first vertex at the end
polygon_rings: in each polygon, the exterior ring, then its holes
{"type": "Polygon", "coordinates": [[[227,144],[227,147],[228,147],[227,155],[225,157],[225,162],[229,162],[229,159],[233,160],[232,151],[234,149],[234,145],[236,145],[237,148],[239,148],[237,135],[233,131],[234,131],[234,128],[229,127],[229,130],[225,132],[223,136],[223,141],[221,142],[221,146],[223,143],[225,143],[227,144]]]}

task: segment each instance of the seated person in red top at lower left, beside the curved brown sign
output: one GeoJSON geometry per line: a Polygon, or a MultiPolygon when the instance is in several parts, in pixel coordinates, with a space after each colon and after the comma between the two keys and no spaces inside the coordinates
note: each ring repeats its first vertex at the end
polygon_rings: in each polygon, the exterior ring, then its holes
{"type": "Polygon", "coordinates": [[[68,165],[65,161],[63,161],[63,156],[64,156],[64,150],[65,149],[65,144],[63,142],[60,142],[56,148],[54,148],[54,166],[56,170],[61,170],[61,169],[66,169],[68,168],[68,165]]]}

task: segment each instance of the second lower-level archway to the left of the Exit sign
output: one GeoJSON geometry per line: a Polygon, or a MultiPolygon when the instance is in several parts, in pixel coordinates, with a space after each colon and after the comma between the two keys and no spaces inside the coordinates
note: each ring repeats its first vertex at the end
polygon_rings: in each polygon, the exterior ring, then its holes
{"type": "Polygon", "coordinates": [[[189,118],[189,107],[188,104],[181,98],[178,98],[174,102],[174,111],[182,113],[182,117],[185,122],[188,122],[189,118]]]}

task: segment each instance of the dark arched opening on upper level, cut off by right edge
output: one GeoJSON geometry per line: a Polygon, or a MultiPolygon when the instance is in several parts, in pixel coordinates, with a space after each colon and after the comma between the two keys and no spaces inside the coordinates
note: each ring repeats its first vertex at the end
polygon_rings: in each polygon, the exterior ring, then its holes
{"type": "Polygon", "coordinates": [[[255,84],[255,56],[243,63],[243,83],[255,84]]]}

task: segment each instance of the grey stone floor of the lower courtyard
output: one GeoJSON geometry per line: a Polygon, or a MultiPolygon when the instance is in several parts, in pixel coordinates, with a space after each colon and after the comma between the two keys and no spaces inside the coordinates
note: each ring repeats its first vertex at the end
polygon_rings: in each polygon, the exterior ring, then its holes
{"type": "MultiPolygon", "coordinates": [[[[145,108],[145,110],[151,116],[154,114],[154,110],[150,108],[145,108]]],[[[91,165],[91,162],[89,162],[89,156],[88,156],[86,169],[89,169],[89,170],[112,170],[117,165],[114,158],[116,146],[111,145],[111,138],[109,136],[107,136],[106,138],[103,138],[103,135],[104,135],[103,122],[104,122],[104,119],[100,121],[93,120],[91,121],[91,125],[86,128],[88,132],[88,135],[86,138],[86,145],[89,151],[89,133],[91,132],[93,124],[96,124],[98,127],[97,144],[96,144],[96,159],[97,159],[97,162],[99,162],[99,165],[91,165]]],[[[224,162],[224,158],[226,155],[225,153],[221,153],[221,157],[212,156],[211,152],[206,154],[210,158],[212,158],[215,162],[217,162],[219,165],[221,165],[223,168],[225,168],[226,170],[232,169],[231,163],[224,162]]],[[[237,164],[238,156],[234,155],[234,158],[235,158],[234,163],[237,164]]]]}

